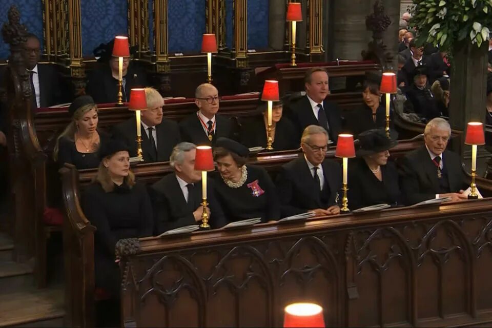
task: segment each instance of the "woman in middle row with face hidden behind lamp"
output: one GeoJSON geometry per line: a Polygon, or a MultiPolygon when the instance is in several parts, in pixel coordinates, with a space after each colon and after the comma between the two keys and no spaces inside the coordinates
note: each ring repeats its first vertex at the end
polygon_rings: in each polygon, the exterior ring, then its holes
{"type": "MultiPolygon", "coordinates": [[[[260,97],[261,99],[261,97],[260,97]]],[[[240,132],[241,143],[246,147],[267,147],[268,107],[265,101],[258,106],[258,115],[243,124],[240,132]]],[[[299,140],[292,133],[295,126],[282,116],[282,101],[274,101],[272,108],[272,139],[274,150],[290,150],[299,148],[299,140]]]]}

